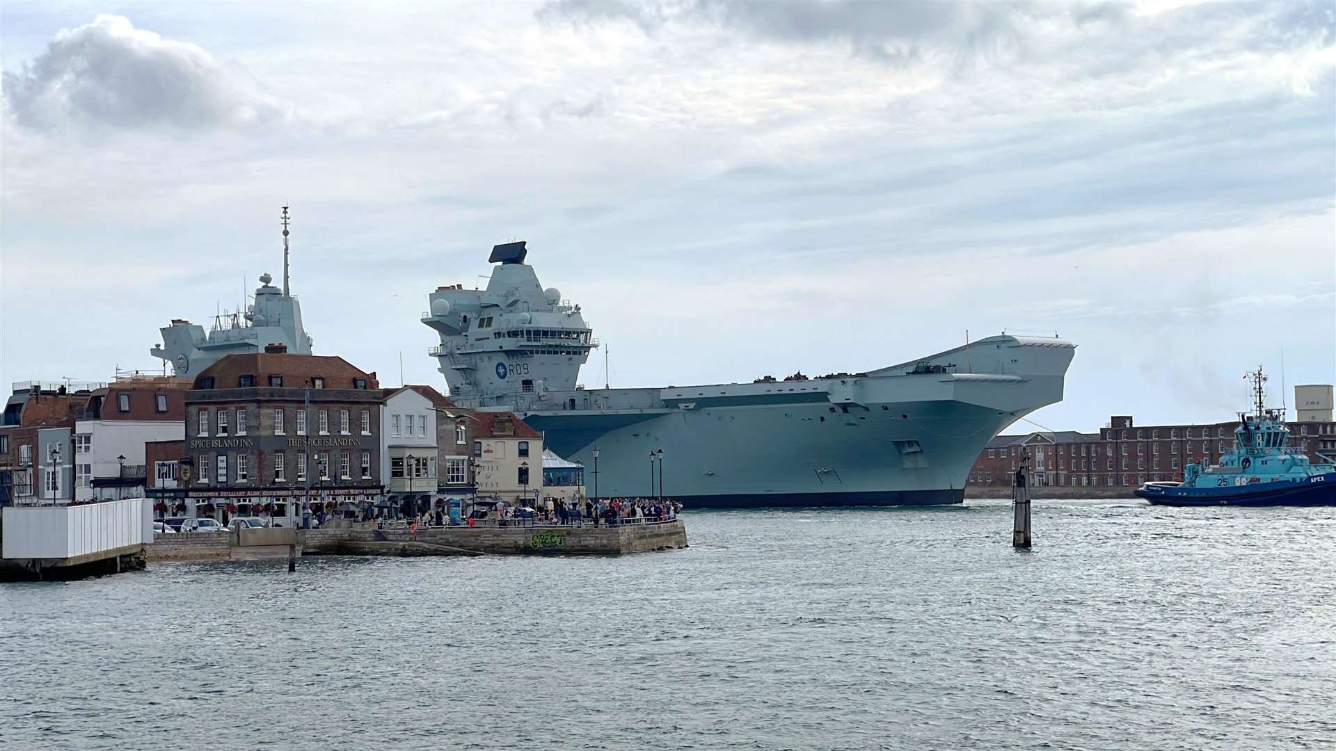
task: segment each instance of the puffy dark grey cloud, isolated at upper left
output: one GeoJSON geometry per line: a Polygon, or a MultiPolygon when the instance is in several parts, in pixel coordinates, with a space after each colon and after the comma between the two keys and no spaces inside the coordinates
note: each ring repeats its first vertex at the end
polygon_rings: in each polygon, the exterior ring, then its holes
{"type": "Polygon", "coordinates": [[[7,71],[4,99],[17,123],[39,131],[68,124],[200,131],[263,124],[286,112],[239,65],[108,15],[61,29],[20,72],[7,71]]]}

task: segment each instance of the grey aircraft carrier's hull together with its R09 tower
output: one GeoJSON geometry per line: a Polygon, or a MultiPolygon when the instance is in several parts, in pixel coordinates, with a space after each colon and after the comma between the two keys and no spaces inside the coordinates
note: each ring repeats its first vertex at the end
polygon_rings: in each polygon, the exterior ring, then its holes
{"type": "Polygon", "coordinates": [[[516,412],[546,446],[596,472],[601,497],[661,492],[693,508],[961,502],[985,444],[1062,400],[1075,351],[1057,337],[997,335],[867,373],[585,389],[576,380],[599,341],[578,305],[542,289],[526,255],[524,242],[498,245],[485,290],[430,294],[422,322],[441,343],[429,354],[454,402],[516,412]]]}

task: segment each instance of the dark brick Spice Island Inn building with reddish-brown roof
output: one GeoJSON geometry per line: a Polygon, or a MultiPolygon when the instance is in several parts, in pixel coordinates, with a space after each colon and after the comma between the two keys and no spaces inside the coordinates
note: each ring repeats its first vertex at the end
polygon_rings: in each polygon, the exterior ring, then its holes
{"type": "Polygon", "coordinates": [[[375,373],[341,357],[270,345],[219,359],[186,394],[184,509],[170,510],[286,527],[306,501],[370,508],[383,492],[382,404],[375,373]]]}

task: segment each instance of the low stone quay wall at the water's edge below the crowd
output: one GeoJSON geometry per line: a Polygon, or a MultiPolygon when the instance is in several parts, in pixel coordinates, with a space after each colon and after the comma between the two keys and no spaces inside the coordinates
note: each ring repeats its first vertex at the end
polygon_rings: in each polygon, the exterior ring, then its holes
{"type": "Polygon", "coordinates": [[[146,547],[150,563],[298,556],[628,555],[687,547],[681,518],[615,525],[413,527],[374,522],[334,529],[257,528],[231,533],[162,535],[146,547]]]}

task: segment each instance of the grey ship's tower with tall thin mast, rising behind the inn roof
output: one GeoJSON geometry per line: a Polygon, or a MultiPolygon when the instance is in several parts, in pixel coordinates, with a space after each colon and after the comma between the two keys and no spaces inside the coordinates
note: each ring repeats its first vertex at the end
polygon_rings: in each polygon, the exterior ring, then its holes
{"type": "Polygon", "coordinates": [[[291,354],[311,354],[311,337],[302,329],[302,306],[287,287],[289,214],[283,207],[283,289],[262,274],[255,302],[244,311],[216,315],[203,326],[174,318],[160,329],[163,342],[148,354],[170,362],[178,377],[198,376],[228,354],[263,351],[267,345],[285,345],[291,354]]]}

